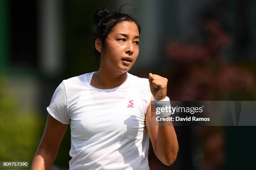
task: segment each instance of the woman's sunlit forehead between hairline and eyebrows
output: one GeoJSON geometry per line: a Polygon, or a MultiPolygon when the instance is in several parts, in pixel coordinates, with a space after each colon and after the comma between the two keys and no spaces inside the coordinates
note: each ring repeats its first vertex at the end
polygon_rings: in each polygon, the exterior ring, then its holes
{"type": "Polygon", "coordinates": [[[123,33],[123,34],[128,34],[131,36],[139,36],[139,32],[138,32],[138,27],[136,25],[136,23],[134,23],[133,21],[122,21],[118,24],[116,24],[111,32],[112,35],[115,34],[119,34],[119,33],[123,33]]]}

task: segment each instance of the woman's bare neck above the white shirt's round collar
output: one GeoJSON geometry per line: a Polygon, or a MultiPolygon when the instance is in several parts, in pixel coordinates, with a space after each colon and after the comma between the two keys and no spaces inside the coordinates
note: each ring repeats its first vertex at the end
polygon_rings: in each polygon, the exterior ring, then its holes
{"type": "Polygon", "coordinates": [[[97,86],[101,89],[111,89],[120,86],[127,79],[127,73],[114,73],[113,71],[100,69],[95,74],[97,86]]]}

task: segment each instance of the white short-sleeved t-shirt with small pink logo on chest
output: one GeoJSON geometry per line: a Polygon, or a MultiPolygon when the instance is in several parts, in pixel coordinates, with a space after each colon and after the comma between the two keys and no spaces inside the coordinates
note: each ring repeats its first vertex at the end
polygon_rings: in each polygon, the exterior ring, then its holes
{"type": "Polygon", "coordinates": [[[148,79],[129,73],[113,89],[90,85],[94,72],[63,80],[47,107],[71,128],[70,170],[149,170],[148,79]]]}

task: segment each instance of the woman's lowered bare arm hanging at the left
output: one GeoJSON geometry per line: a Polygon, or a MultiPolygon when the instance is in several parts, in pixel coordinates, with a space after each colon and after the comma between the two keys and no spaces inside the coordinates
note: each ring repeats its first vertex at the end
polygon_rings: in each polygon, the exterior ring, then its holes
{"type": "Polygon", "coordinates": [[[44,134],[36,150],[31,170],[51,169],[68,126],[48,114],[44,134]]]}

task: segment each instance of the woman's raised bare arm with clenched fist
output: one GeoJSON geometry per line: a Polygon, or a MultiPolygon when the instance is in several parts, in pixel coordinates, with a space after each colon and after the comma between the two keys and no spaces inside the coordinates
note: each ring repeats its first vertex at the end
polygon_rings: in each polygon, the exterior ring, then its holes
{"type": "MultiPolygon", "coordinates": [[[[152,93],[151,101],[163,100],[166,98],[167,92],[167,78],[161,77],[160,75],[155,75],[149,73],[148,81],[150,85],[150,91],[152,93]]],[[[153,145],[156,157],[161,160],[165,165],[172,165],[177,158],[179,145],[177,136],[172,125],[158,125],[153,126],[151,121],[151,105],[149,105],[146,112],[146,126],[148,134],[153,145]]]]}

